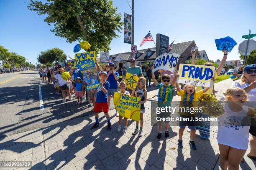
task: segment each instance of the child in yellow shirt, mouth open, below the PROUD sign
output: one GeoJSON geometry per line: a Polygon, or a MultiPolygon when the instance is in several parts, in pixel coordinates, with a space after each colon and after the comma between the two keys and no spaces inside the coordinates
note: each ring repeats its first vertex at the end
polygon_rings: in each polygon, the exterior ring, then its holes
{"type": "MultiPolygon", "coordinates": [[[[179,75],[177,75],[177,77],[178,76],[179,75]]],[[[195,85],[185,85],[182,90],[179,87],[179,83],[176,83],[176,87],[177,87],[177,93],[181,97],[179,108],[182,108],[181,110],[179,109],[180,118],[179,118],[178,146],[179,148],[183,148],[182,136],[183,136],[185,127],[188,126],[188,128],[191,129],[189,145],[193,150],[196,150],[197,147],[194,141],[196,123],[195,123],[195,115],[193,114],[193,112],[197,114],[197,112],[195,112],[195,108],[197,108],[197,100],[201,95],[203,95],[204,92],[206,92],[209,89],[209,87],[205,87],[204,90],[200,90],[198,92],[195,91],[195,85]],[[187,108],[189,109],[187,110],[187,108]]]]}

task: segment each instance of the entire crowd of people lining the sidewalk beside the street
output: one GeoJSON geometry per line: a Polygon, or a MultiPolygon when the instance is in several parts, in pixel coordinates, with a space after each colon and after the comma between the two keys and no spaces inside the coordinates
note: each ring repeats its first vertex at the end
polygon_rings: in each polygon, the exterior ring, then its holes
{"type": "MultiPolygon", "coordinates": [[[[223,50],[223,53],[224,55],[222,62],[212,76],[212,84],[218,75],[220,75],[220,72],[225,65],[228,52],[223,50]]],[[[42,68],[39,71],[39,74],[42,82],[52,83],[56,90],[56,94],[62,94],[63,102],[66,102],[67,93],[70,101],[73,101],[72,97],[77,97],[77,102],[74,103],[75,105],[81,105],[83,100],[85,100],[84,103],[88,104],[89,106],[93,105],[92,111],[95,113],[95,124],[91,128],[92,130],[99,126],[100,112],[104,112],[107,119],[107,130],[111,130],[111,120],[108,111],[111,98],[114,96],[115,92],[141,97],[141,100],[138,101],[138,103],[141,104],[140,120],[136,121],[136,128],[133,132],[133,135],[138,134],[138,136],[143,135],[143,115],[146,112],[144,103],[147,102],[147,88],[151,87],[151,78],[153,80],[152,85],[159,89],[158,107],[170,106],[176,90],[182,101],[180,103],[180,107],[196,107],[193,104],[191,105],[191,103],[197,101],[201,95],[212,94],[213,92],[212,86],[200,87],[194,85],[184,85],[183,88],[180,87],[180,84],[176,82],[177,77],[179,77],[177,74],[177,68],[175,72],[170,72],[168,70],[158,70],[157,72],[152,72],[151,67],[141,69],[141,66],[137,66],[134,58],[131,58],[130,63],[131,67],[129,67],[127,70],[122,68],[120,71],[118,67],[115,68],[113,62],[109,62],[103,67],[96,62],[100,80],[96,78],[97,75],[86,72],[82,73],[79,69],[73,69],[72,65],[66,68],[61,66],[56,66],[53,69],[50,69],[49,67],[42,68]],[[61,74],[64,71],[68,71],[71,75],[71,78],[69,78],[67,81],[61,78],[61,74]],[[126,88],[124,78],[127,72],[139,77],[138,83],[133,90],[126,88]],[[86,90],[87,85],[89,85],[92,81],[99,81],[100,87],[97,89],[86,90]],[[163,91],[165,92],[165,95],[162,94],[163,91]]],[[[195,64],[195,52],[192,52],[191,64],[195,64]]],[[[204,65],[212,66],[212,63],[206,62],[204,65]]],[[[220,120],[230,115],[237,117],[248,115],[248,112],[252,110],[251,107],[255,107],[256,64],[246,65],[241,71],[240,78],[233,82],[223,96],[222,100],[227,101],[227,103],[224,104],[223,108],[225,113],[219,117],[220,120]],[[244,102],[247,100],[254,101],[254,105],[251,105],[250,107],[244,105],[244,102]]],[[[182,115],[182,117],[189,117],[184,112],[179,112],[179,114],[182,115]]],[[[115,116],[119,117],[119,126],[117,131],[121,131],[122,119],[124,118],[122,132],[126,133],[128,130],[128,118],[120,116],[117,110],[115,110],[115,116]]],[[[198,113],[198,116],[205,115],[200,115],[200,113],[198,113]]],[[[255,121],[254,116],[251,116],[251,120],[255,121]]],[[[156,134],[157,140],[162,139],[162,124],[162,121],[158,122],[159,132],[156,134]]],[[[194,140],[197,129],[199,130],[200,137],[202,139],[210,138],[210,121],[202,121],[200,124],[196,124],[196,122],[193,121],[188,122],[181,120],[179,122],[179,140],[177,143],[179,148],[183,148],[182,136],[186,126],[188,126],[188,132],[190,132],[189,145],[191,149],[196,150],[197,147],[200,147],[196,145],[194,140]]],[[[168,132],[169,128],[169,121],[165,121],[164,137],[166,139],[170,138],[168,132]]],[[[248,143],[250,143],[251,150],[247,156],[253,160],[256,160],[256,126],[248,125],[244,126],[244,128],[237,129],[219,125],[217,140],[220,150],[220,164],[223,170],[226,170],[227,168],[238,169],[239,164],[243,162],[243,156],[248,149],[248,143]],[[252,135],[250,140],[249,133],[252,135]]]]}

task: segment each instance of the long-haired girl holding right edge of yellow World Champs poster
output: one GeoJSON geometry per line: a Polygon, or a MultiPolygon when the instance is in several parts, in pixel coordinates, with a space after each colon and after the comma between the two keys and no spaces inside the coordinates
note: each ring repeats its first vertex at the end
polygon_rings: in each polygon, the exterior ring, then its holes
{"type": "Polygon", "coordinates": [[[141,101],[138,101],[138,103],[141,104],[141,115],[140,115],[141,128],[140,128],[140,130],[138,130],[138,122],[136,121],[136,129],[133,132],[133,135],[136,135],[139,132],[138,136],[141,137],[143,135],[143,131],[142,131],[143,113],[145,113],[144,103],[147,101],[147,90],[146,90],[146,78],[145,77],[139,78],[138,83],[137,83],[136,87],[133,89],[131,96],[141,97],[141,101]]]}

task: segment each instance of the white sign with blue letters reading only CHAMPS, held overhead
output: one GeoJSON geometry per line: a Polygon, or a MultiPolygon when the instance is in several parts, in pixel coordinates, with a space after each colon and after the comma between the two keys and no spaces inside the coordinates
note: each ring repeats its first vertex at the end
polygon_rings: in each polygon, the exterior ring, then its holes
{"type": "Polygon", "coordinates": [[[174,66],[177,65],[179,55],[175,53],[165,53],[156,57],[154,62],[154,68],[152,72],[156,70],[164,69],[170,72],[174,72],[174,66]]]}

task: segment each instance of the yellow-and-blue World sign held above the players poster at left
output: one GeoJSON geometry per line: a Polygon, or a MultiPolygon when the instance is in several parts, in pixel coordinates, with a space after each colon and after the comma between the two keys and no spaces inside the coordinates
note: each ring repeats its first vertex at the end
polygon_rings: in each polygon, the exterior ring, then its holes
{"type": "Polygon", "coordinates": [[[95,51],[82,52],[75,54],[74,68],[86,70],[90,67],[95,67],[95,51]]]}

